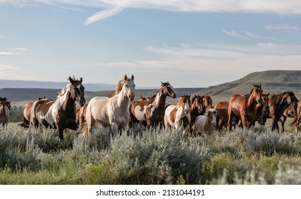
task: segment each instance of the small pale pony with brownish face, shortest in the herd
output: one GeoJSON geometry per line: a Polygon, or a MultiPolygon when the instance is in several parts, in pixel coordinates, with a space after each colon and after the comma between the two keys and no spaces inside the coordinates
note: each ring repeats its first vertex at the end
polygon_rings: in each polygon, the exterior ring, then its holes
{"type": "Polygon", "coordinates": [[[204,134],[205,138],[207,138],[208,134],[211,134],[213,127],[216,127],[215,109],[208,109],[205,115],[199,115],[198,117],[196,117],[194,129],[199,134],[204,134]]]}

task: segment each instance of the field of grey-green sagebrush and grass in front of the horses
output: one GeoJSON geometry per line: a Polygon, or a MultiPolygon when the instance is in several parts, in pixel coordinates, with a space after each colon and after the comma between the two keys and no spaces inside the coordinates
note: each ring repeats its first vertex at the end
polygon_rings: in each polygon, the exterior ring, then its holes
{"type": "Polygon", "coordinates": [[[208,139],[183,139],[181,129],[144,129],[112,138],[53,129],[0,131],[0,184],[300,184],[301,134],[256,126],[208,139]]]}

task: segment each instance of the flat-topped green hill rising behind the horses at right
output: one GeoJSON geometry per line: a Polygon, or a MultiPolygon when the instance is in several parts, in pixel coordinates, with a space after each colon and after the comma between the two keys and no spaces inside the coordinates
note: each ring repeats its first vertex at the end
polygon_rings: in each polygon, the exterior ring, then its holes
{"type": "Polygon", "coordinates": [[[198,93],[210,95],[213,102],[228,101],[232,95],[248,94],[253,88],[253,84],[258,85],[260,83],[263,93],[270,92],[270,95],[274,95],[292,91],[298,99],[301,98],[301,70],[253,72],[239,80],[211,86],[198,93]]]}

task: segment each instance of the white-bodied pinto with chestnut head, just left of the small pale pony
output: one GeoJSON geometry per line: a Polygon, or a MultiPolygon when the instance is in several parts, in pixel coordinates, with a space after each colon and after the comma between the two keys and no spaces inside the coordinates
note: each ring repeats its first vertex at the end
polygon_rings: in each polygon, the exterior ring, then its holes
{"type": "Polygon", "coordinates": [[[178,104],[169,105],[167,109],[165,109],[164,114],[164,125],[166,128],[175,127],[178,129],[181,125],[183,125],[184,131],[183,136],[188,134],[190,131],[190,95],[181,95],[178,104]]]}

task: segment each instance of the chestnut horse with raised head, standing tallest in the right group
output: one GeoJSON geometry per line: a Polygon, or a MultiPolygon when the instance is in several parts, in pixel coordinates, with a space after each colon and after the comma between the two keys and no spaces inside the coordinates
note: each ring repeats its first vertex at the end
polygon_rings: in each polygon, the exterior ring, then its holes
{"type": "Polygon", "coordinates": [[[257,111],[256,104],[263,104],[263,90],[260,85],[253,85],[250,95],[233,95],[228,105],[228,129],[232,131],[234,117],[241,120],[243,129],[250,127],[257,111]]]}

